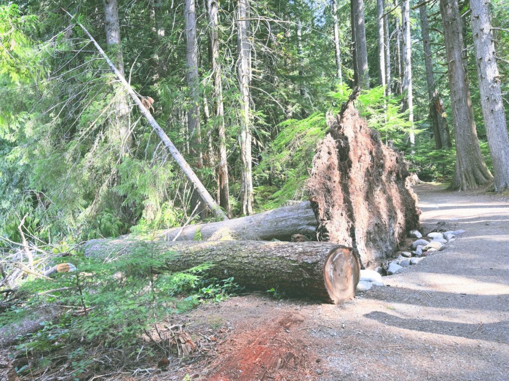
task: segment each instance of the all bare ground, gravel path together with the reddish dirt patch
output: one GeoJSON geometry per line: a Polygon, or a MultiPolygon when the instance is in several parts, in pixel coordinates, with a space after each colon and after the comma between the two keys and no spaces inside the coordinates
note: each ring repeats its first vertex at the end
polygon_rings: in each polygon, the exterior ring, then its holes
{"type": "Polygon", "coordinates": [[[186,330],[214,332],[214,349],[157,379],[507,380],[509,203],[432,185],[416,192],[423,233],[466,233],[340,306],[257,294],[201,306],[186,330]]]}

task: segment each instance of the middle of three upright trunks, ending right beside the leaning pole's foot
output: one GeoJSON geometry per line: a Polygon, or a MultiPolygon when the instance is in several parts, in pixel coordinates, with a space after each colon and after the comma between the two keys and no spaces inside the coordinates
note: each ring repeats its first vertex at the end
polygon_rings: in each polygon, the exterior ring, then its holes
{"type": "Polygon", "coordinates": [[[219,65],[219,39],[217,36],[218,16],[217,1],[208,0],[210,40],[212,45],[212,70],[214,75],[214,96],[216,98],[217,135],[219,138],[219,164],[217,177],[219,181],[219,205],[230,217],[230,188],[228,179],[228,157],[226,134],[224,129],[224,104],[222,96],[221,67],[219,65]]]}

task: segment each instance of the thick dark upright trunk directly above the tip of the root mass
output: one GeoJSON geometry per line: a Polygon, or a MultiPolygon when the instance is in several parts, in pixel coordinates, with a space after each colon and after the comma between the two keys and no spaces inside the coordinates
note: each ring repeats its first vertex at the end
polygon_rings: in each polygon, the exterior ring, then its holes
{"type": "Polygon", "coordinates": [[[352,30],[355,42],[354,71],[357,72],[356,86],[362,89],[370,88],[370,73],[367,69],[367,47],[366,47],[366,29],[364,25],[364,0],[351,0],[352,9],[352,30]]]}

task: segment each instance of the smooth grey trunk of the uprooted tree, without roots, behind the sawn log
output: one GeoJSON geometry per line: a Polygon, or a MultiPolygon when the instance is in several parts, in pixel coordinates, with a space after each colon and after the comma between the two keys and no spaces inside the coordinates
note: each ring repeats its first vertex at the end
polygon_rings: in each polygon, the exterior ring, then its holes
{"type": "MultiPolygon", "coordinates": [[[[316,238],[318,220],[309,201],[269,210],[242,218],[234,218],[209,224],[188,225],[158,231],[156,240],[260,240],[290,241],[292,235],[302,234],[311,240],[316,238]]],[[[134,238],[134,235],[127,238],[134,238]]]]}

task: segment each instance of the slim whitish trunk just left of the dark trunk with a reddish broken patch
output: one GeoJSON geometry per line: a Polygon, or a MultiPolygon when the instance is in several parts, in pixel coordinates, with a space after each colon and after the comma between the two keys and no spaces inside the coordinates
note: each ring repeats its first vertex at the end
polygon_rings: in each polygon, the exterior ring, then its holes
{"type": "Polygon", "coordinates": [[[408,110],[408,121],[410,122],[410,132],[408,138],[410,147],[415,145],[415,134],[413,132],[413,89],[412,89],[412,38],[410,35],[410,0],[403,0],[401,5],[403,14],[403,101],[402,111],[408,110]]]}

